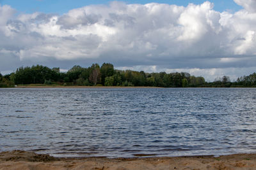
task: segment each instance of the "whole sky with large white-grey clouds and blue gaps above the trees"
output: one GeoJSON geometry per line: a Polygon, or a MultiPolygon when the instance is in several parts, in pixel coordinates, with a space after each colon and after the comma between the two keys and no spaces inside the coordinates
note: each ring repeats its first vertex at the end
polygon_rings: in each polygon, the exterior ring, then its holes
{"type": "Polygon", "coordinates": [[[207,81],[256,71],[256,0],[0,0],[0,71],[186,71],[207,81]]]}

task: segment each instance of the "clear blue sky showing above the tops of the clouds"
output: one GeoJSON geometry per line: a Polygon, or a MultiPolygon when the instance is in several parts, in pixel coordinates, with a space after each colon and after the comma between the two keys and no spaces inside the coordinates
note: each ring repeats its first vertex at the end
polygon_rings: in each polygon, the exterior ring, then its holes
{"type": "MultiPolygon", "coordinates": [[[[0,4],[8,4],[15,8],[19,13],[67,13],[69,10],[75,8],[81,8],[90,4],[109,4],[111,1],[107,0],[93,0],[93,1],[81,1],[81,0],[0,0],[0,4]]],[[[189,3],[202,4],[204,0],[159,0],[159,1],[147,1],[147,0],[124,0],[127,4],[147,4],[147,3],[165,3],[165,4],[176,4],[179,6],[188,6],[189,3]]],[[[214,10],[216,11],[229,11],[235,12],[241,9],[241,6],[237,5],[233,0],[215,0],[210,1],[214,3],[214,10]]]]}

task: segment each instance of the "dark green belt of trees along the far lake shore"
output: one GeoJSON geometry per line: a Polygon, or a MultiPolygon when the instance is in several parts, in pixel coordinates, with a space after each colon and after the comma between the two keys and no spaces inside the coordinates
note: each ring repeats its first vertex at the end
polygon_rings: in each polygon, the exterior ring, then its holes
{"type": "Polygon", "coordinates": [[[118,70],[113,64],[92,64],[90,67],[74,66],[61,73],[59,67],[19,67],[15,73],[2,75],[0,87],[15,85],[49,86],[119,86],[119,87],[256,87],[256,73],[231,82],[228,76],[206,82],[202,76],[189,73],[145,73],[144,71],[118,70]]]}

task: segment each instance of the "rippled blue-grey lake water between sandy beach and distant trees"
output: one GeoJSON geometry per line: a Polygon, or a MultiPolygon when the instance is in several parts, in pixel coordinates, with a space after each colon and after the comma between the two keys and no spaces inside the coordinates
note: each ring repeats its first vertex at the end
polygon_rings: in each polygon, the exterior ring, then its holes
{"type": "Polygon", "coordinates": [[[0,89],[0,152],[256,153],[256,89],[0,89]]]}

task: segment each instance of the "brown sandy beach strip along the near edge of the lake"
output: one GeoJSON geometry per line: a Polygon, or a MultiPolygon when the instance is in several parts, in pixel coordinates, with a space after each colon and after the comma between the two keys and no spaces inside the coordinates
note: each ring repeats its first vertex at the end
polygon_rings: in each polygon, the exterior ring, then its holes
{"type": "Polygon", "coordinates": [[[15,150],[0,153],[0,169],[256,169],[256,154],[220,157],[152,157],[132,159],[54,158],[15,150]]]}

